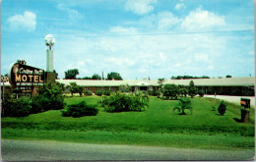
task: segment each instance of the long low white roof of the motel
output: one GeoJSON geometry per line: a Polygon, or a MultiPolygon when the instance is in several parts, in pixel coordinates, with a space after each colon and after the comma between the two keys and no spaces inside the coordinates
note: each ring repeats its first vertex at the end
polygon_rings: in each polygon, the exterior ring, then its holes
{"type": "MultiPolygon", "coordinates": [[[[158,86],[158,80],[124,80],[124,81],[104,81],[104,80],[56,80],[64,84],[77,82],[82,86],[119,86],[121,84],[129,84],[130,86],[158,86]]],[[[189,85],[190,81],[194,81],[196,86],[254,86],[255,78],[224,78],[224,79],[193,79],[193,80],[165,80],[163,84],[174,83],[189,85]]],[[[1,86],[3,83],[1,82],[1,86]]],[[[10,86],[9,82],[5,82],[6,86],[10,86]]]]}

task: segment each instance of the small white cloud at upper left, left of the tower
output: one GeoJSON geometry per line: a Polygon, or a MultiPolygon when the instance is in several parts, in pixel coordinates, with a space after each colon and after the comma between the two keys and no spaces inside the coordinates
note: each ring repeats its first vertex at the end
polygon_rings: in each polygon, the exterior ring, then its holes
{"type": "Polygon", "coordinates": [[[15,15],[8,18],[7,22],[13,29],[24,28],[32,31],[36,26],[36,15],[32,12],[26,11],[24,12],[24,15],[15,15]]]}

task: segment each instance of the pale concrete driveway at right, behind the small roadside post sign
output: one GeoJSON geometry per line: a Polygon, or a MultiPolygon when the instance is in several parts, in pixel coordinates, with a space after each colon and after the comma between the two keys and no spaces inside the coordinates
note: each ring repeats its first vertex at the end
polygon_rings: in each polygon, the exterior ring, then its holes
{"type": "MultiPolygon", "coordinates": [[[[205,95],[205,97],[215,98],[215,95],[205,95]]],[[[231,95],[216,95],[216,98],[223,99],[227,102],[232,102],[240,105],[241,98],[249,98],[251,108],[255,108],[255,97],[254,96],[231,96],[231,95]]]]}

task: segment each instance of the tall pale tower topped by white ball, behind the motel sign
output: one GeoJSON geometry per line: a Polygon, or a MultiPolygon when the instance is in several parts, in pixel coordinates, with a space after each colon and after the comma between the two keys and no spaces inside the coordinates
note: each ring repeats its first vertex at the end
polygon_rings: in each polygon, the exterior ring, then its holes
{"type": "Polygon", "coordinates": [[[56,74],[53,73],[53,50],[51,49],[51,47],[55,43],[55,38],[52,34],[47,34],[44,37],[44,40],[45,45],[49,47],[48,49],[46,49],[46,81],[55,83],[56,74]]]}

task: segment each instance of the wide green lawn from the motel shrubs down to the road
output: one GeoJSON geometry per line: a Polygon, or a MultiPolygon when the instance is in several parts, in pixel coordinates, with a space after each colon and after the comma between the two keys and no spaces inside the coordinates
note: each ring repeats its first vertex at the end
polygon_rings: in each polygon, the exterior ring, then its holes
{"type": "MultiPolygon", "coordinates": [[[[67,104],[100,97],[67,97],[67,104]]],[[[193,98],[192,115],[175,115],[176,100],[150,98],[144,112],[106,113],[62,117],[60,110],[25,118],[2,118],[3,138],[54,139],[91,143],[160,145],[196,148],[254,148],[254,123],[237,123],[239,107],[227,105],[224,116],[213,111],[211,98],[193,98]]]]}

